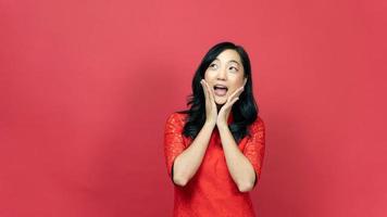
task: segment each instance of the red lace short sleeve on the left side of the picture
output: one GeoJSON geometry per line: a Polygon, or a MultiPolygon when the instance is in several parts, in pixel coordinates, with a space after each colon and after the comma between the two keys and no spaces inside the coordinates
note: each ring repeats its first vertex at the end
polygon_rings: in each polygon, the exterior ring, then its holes
{"type": "Polygon", "coordinates": [[[173,163],[177,155],[185,150],[183,138],[184,122],[182,116],[173,113],[166,120],[164,131],[164,155],[170,178],[173,182],[173,163]]]}

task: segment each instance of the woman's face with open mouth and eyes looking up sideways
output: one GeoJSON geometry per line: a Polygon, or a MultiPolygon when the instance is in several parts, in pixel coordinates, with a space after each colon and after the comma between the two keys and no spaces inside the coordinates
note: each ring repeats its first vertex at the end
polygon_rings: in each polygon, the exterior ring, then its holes
{"type": "Polygon", "coordinates": [[[227,49],[220,53],[207,68],[204,80],[214,91],[215,103],[226,103],[227,98],[247,81],[238,52],[227,49]]]}

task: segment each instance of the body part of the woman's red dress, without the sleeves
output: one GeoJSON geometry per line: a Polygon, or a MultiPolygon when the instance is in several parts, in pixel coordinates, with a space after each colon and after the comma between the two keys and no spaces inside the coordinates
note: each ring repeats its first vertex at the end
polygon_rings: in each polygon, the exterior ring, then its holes
{"type": "MultiPolygon", "coordinates": [[[[184,141],[186,145],[192,142],[186,137],[184,141]]],[[[240,151],[246,141],[244,138],[239,142],[240,151]]],[[[240,192],[230,177],[217,128],[211,135],[197,174],[185,187],[175,186],[174,216],[255,216],[250,194],[240,192]]]]}

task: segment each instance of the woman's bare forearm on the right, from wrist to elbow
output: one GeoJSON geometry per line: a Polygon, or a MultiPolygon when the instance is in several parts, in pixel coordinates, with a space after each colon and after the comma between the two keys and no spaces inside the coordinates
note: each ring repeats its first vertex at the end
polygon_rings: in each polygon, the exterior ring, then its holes
{"type": "Polygon", "coordinates": [[[250,191],[255,179],[254,168],[239,150],[228,126],[222,125],[219,129],[227,167],[233,180],[239,191],[250,191]]]}

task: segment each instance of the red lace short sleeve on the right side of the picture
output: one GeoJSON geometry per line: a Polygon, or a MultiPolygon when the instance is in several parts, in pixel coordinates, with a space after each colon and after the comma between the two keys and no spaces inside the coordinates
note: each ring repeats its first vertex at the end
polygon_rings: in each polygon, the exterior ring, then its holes
{"type": "Polygon", "coordinates": [[[255,182],[260,178],[262,170],[262,163],[265,151],[265,127],[263,120],[258,117],[258,119],[250,127],[251,137],[248,139],[244,154],[250,161],[252,167],[255,171],[255,182]]]}

